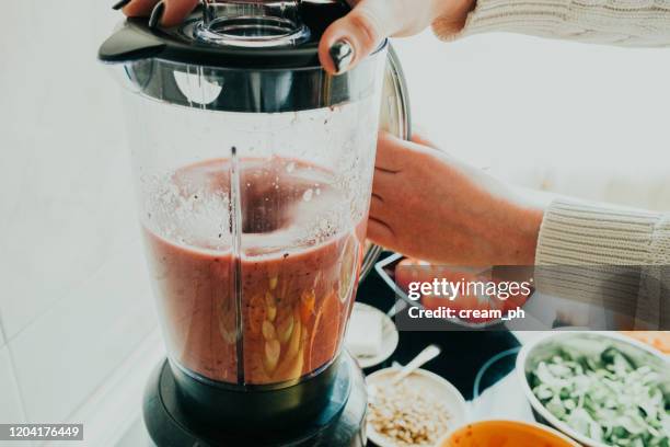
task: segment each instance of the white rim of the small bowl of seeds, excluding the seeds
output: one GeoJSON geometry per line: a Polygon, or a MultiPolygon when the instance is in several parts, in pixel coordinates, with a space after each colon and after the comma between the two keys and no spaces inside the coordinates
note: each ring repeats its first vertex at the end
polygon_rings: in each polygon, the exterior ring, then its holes
{"type": "MultiPolygon", "coordinates": [[[[370,389],[371,386],[379,387],[382,382],[390,380],[398,370],[400,368],[397,367],[384,368],[371,374],[366,378],[368,389],[370,389]]],[[[423,393],[439,397],[442,404],[449,411],[449,428],[446,433],[440,434],[438,438],[446,436],[467,422],[467,405],[465,404],[465,399],[461,392],[444,378],[425,369],[417,369],[404,380],[405,383],[409,381],[408,385],[411,387],[416,387],[416,389],[423,393]]],[[[379,388],[377,392],[380,392],[379,388]]],[[[371,424],[368,424],[367,433],[368,438],[379,447],[396,447],[398,445],[389,437],[377,432],[371,424]]]]}

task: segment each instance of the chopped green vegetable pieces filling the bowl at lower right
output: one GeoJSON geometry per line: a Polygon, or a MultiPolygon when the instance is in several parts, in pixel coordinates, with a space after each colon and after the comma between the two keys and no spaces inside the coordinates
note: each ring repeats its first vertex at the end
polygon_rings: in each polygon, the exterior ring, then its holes
{"type": "Polygon", "coordinates": [[[562,348],[529,376],[533,393],[554,416],[616,447],[670,447],[670,398],[661,379],[614,346],[599,355],[562,348]]]}

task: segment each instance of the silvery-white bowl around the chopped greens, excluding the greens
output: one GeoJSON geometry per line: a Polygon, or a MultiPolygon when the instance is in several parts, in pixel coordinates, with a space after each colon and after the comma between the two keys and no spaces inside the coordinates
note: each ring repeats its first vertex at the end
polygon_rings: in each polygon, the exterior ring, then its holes
{"type": "MultiPolygon", "coordinates": [[[[587,447],[610,447],[605,444],[598,443],[585,435],[576,432],[565,422],[554,416],[540,402],[540,400],[533,393],[528,382],[528,373],[532,369],[532,364],[538,358],[545,358],[550,353],[558,348],[563,343],[568,340],[575,339],[588,339],[597,342],[602,342],[603,347],[605,345],[615,345],[620,349],[624,349],[626,355],[635,358],[644,358],[646,363],[650,364],[655,368],[666,369],[670,368],[670,362],[659,351],[638,342],[628,336],[615,333],[615,332],[554,332],[544,336],[538,337],[532,342],[523,345],[523,348],[517,357],[517,375],[525,398],[529,400],[535,419],[540,422],[546,422],[554,428],[565,433],[573,439],[579,442],[581,445],[587,447]]],[[[670,381],[670,379],[669,379],[670,381]]]]}

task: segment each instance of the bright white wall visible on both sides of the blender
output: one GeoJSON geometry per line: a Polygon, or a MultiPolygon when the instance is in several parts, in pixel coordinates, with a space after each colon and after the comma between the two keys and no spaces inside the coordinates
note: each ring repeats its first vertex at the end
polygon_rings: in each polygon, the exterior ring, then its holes
{"type": "MultiPolygon", "coordinates": [[[[0,26],[0,422],[60,422],[155,326],[112,1],[7,1],[0,26]],[[65,4],[65,7],[63,7],[65,4]]],[[[513,35],[397,44],[416,121],[522,185],[670,209],[670,53],[513,35]]]]}

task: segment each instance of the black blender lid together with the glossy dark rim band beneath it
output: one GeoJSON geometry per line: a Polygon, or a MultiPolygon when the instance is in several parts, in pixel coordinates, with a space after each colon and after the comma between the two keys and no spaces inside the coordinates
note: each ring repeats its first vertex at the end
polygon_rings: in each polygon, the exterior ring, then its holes
{"type": "Polygon", "coordinates": [[[345,0],[201,0],[170,28],[126,20],[99,58],[122,68],[117,79],[130,91],[168,104],[238,113],[337,106],[376,89],[376,64],[331,76],[319,61],[323,32],[349,10],[345,0]]]}

